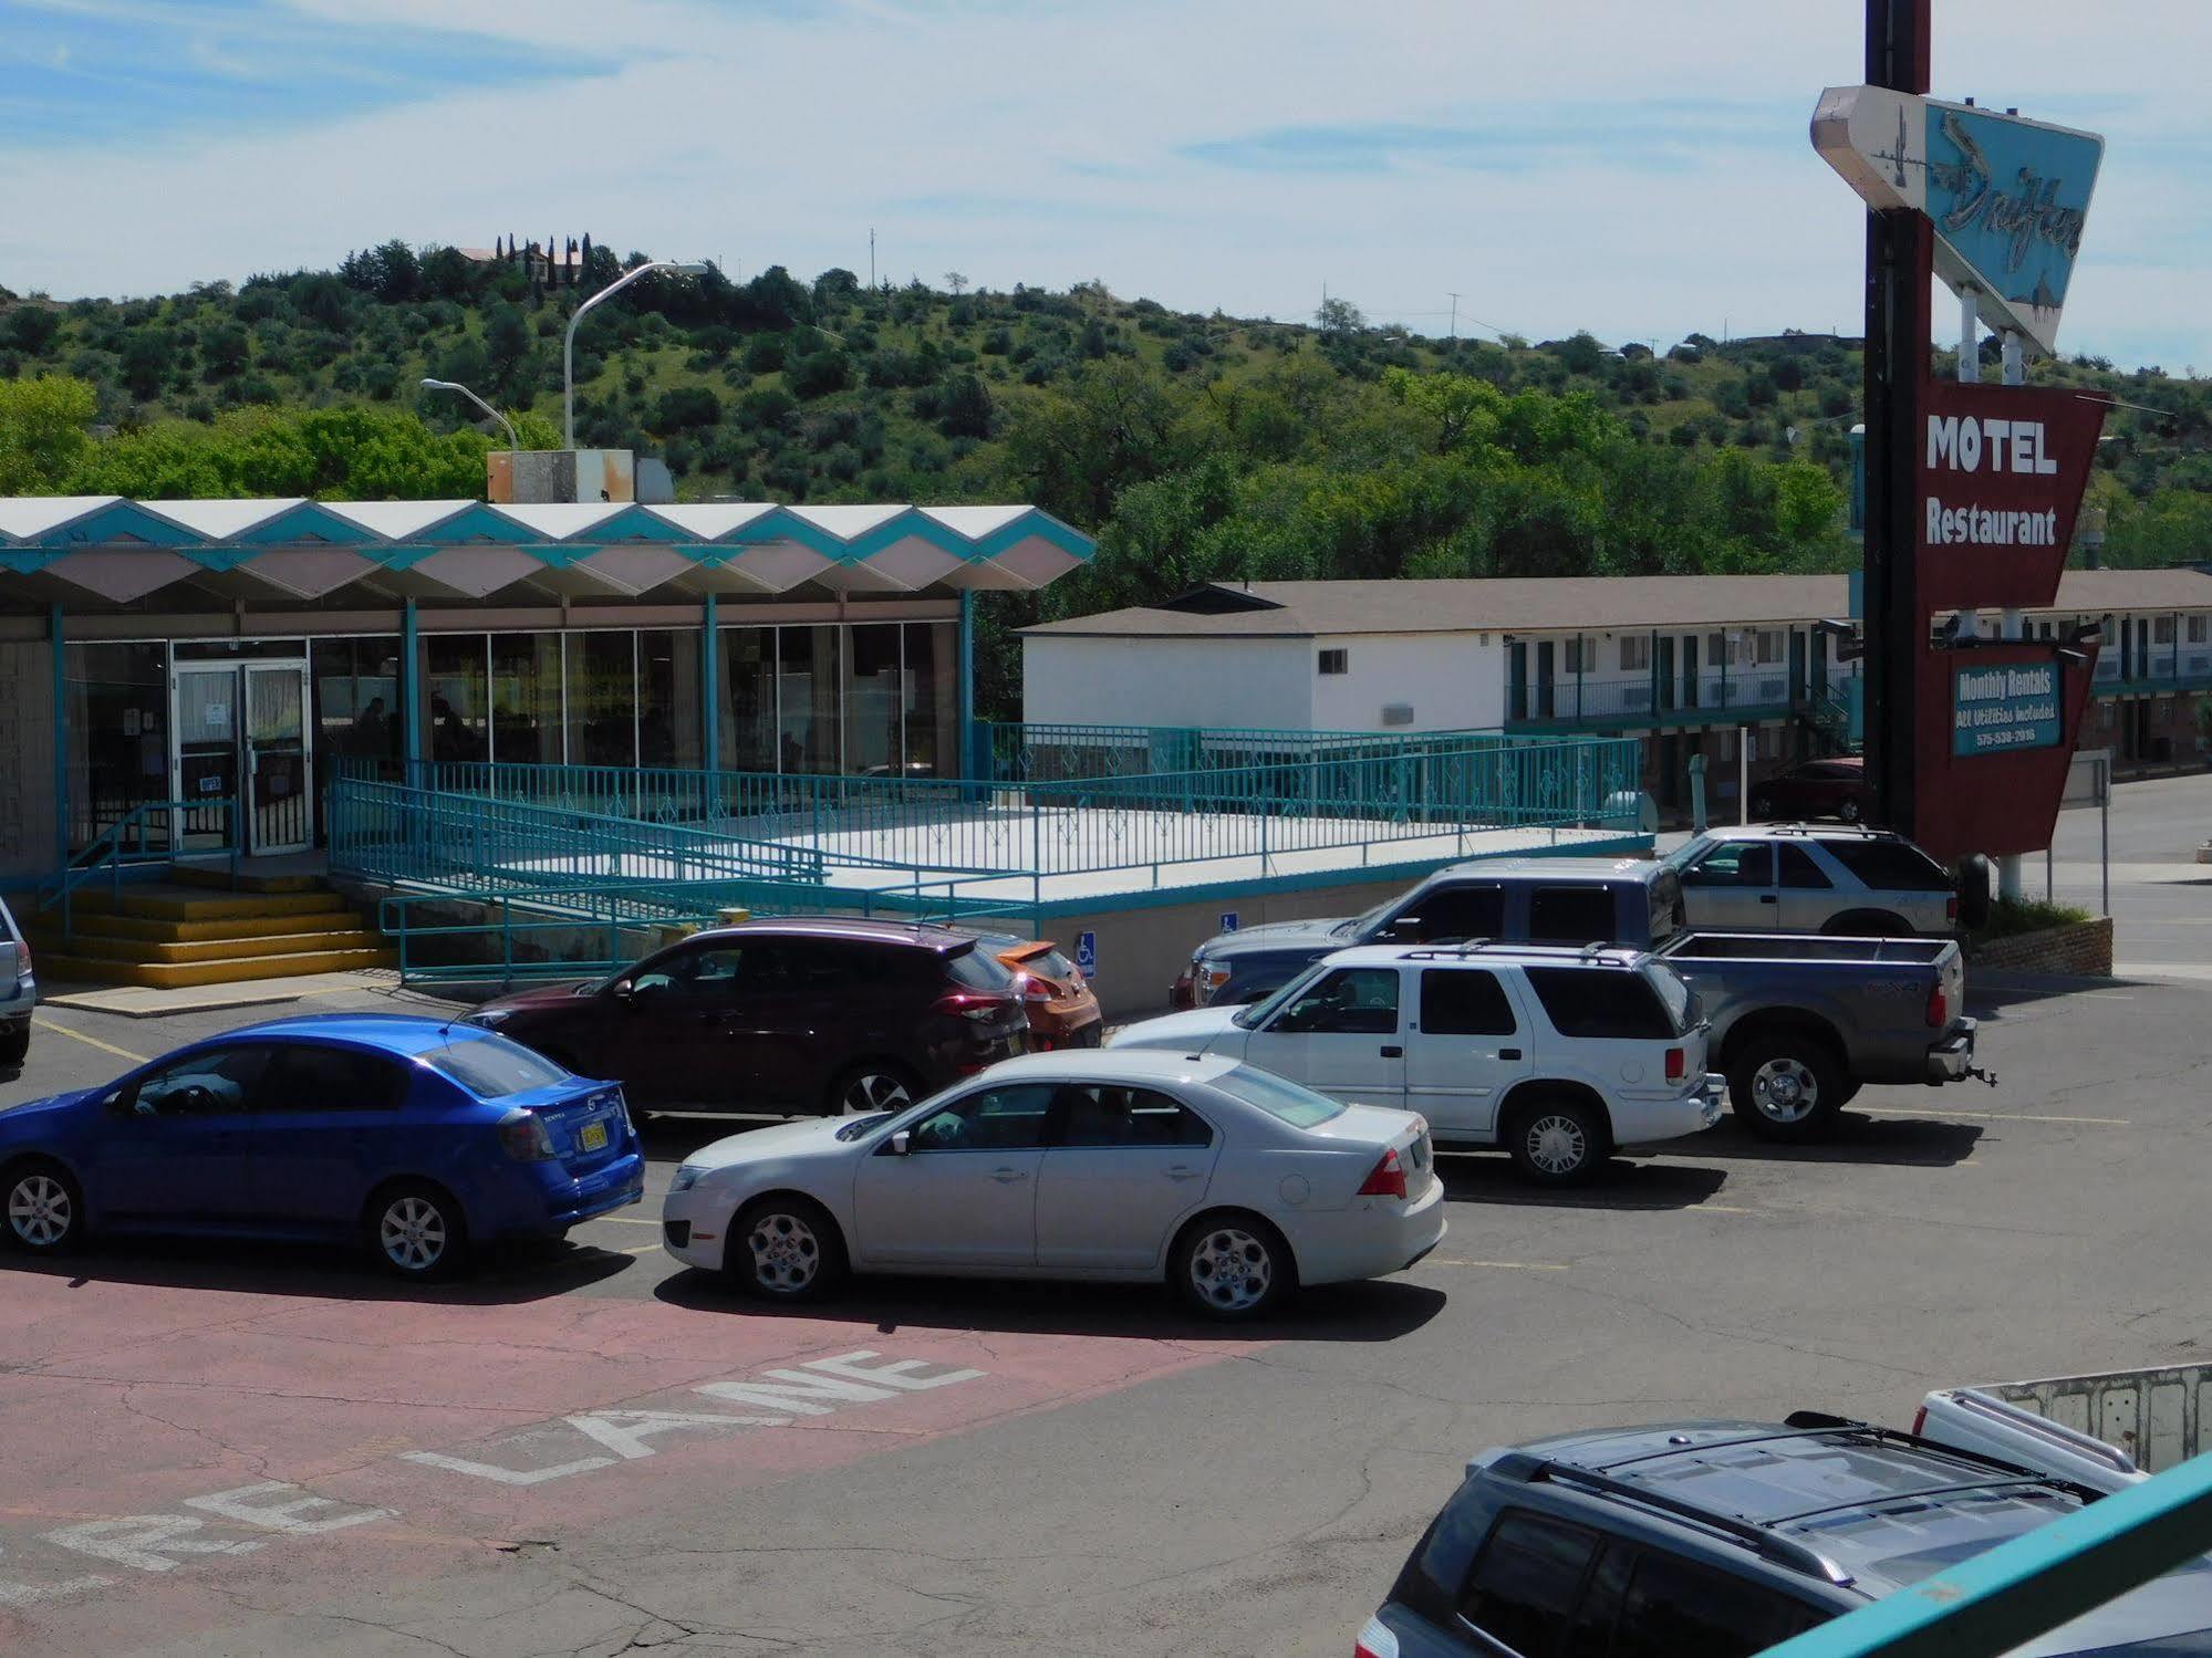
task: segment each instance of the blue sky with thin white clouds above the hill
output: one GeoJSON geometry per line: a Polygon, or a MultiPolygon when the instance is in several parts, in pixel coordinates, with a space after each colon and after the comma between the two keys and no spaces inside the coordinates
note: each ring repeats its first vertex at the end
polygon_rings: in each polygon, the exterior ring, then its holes
{"type": "MultiPolygon", "coordinates": [[[[582,234],[1608,340],[1858,327],[1856,0],[0,0],[0,285],[582,234]]],[[[2212,371],[2212,7],[1938,0],[2108,137],[2062,345],[2212,371]]]]}

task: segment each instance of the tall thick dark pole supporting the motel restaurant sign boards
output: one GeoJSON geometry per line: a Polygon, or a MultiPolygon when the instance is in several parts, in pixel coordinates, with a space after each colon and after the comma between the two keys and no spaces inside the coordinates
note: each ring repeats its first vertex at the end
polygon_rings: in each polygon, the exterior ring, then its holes
{"type": "MultiPolygon", "coordinates": [[[[1867,0],[1867,84],[1929,91],[1931,0],[1867,0]]],[[[1920,590],[1913,493],[1920,378],[1929,356],[1931,223],[1867,214],[1867,783],[1874,820],[1913,833],[1920,590]]]]}

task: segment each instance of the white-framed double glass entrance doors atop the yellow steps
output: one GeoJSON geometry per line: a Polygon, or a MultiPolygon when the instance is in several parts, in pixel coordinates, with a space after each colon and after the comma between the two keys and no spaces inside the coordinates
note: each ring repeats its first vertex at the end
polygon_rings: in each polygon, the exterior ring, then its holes
{"type": "Polygon", "coordinates": [[[239,849],[305,851],[314,842],[307,787],[307,665],[179,663],[170,718],[175,798],[201,805],[184,814],[177,851],[230,844],[237,802],[239,849]]]}

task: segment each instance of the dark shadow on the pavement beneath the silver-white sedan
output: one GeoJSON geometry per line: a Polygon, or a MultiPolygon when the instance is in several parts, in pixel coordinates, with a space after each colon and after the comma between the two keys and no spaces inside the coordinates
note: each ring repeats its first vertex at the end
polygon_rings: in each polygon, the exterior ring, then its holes
{"type": "Polygon", "coordinates": [[[827,1300],[783,1307],[745,1295],[708,1271],[655,1284],[672,1304],[730,1318],[818,1318],[900,1329],[1006,1335],[1117,1335],[1144,1342],[1394,1342],[1440,1311],[1444,1293],[1400,1280],[1318,1284],[1256,1324],[1217,1324],[1175,1302],[1161,1284],[1066,1284],[1000,1278],[856,1278],[827,1300]]]}

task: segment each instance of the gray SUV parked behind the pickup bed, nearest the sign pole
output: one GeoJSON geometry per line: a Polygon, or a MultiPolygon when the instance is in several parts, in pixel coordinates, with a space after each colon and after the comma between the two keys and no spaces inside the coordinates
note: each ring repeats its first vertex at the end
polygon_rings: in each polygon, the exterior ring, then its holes
{"type": "Polygon", "coordinates": [[[1752,822],[1708,829],[1661,862],[1681,875],[1690,926],[1902,937],[1960,924],[1958,882],[1889,829],[1752,822]]]}

